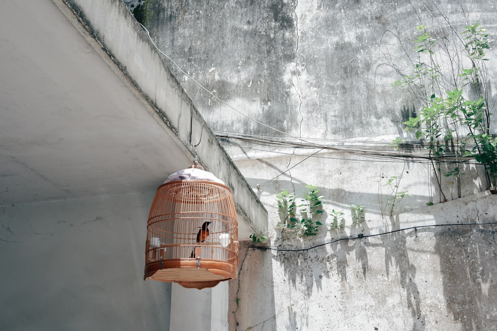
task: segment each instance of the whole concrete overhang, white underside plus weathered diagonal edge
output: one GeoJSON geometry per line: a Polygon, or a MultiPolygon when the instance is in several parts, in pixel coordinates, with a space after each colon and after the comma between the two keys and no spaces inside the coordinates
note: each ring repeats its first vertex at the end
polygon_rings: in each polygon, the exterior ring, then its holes
{"type": "Polygon", "coordinates": [[[155,191],[198,143],[232,189],[240,239],[266,231],[267,211],[121,0],[7,1],[0,27],[0,205],[155,191]]]}

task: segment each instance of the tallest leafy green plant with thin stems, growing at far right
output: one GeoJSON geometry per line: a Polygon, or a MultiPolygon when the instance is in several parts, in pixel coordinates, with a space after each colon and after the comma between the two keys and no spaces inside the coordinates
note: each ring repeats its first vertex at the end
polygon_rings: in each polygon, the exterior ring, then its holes
{"type": "Polygon", "coordinates": [[[446,198],[441,168],[447,156],[455,164],[445,176],[452,177],[449,185],[457,183],[458,197],[461,192],[459,176],[463,175],[460,163],[471,159],[485,167],[488,185],[495,185],[497,141],[490,134],[492,114],[488,109],[489,79],[484,64],[488,61],[489,34],[477,22],[465,26],[462,38],[453,38],[454,43],[462,41],[462,45],[449,47],[448,38],[439,42],[426,26],[418,26],[417,30],[419,35],[414,39],[417,60],[413,63],[413,74],[404,75],[392,84],[396,89],[411,93],[421,104],[420,110],[403,123],[406,131],[425,143],[442,201],[446,198]],[[453,61],[464,57],[467,61],[453,61]],[[469,98],[469,95],[474,97],[469,98]],[[457,144],[447,143],[454,139],[457,144]]]}

